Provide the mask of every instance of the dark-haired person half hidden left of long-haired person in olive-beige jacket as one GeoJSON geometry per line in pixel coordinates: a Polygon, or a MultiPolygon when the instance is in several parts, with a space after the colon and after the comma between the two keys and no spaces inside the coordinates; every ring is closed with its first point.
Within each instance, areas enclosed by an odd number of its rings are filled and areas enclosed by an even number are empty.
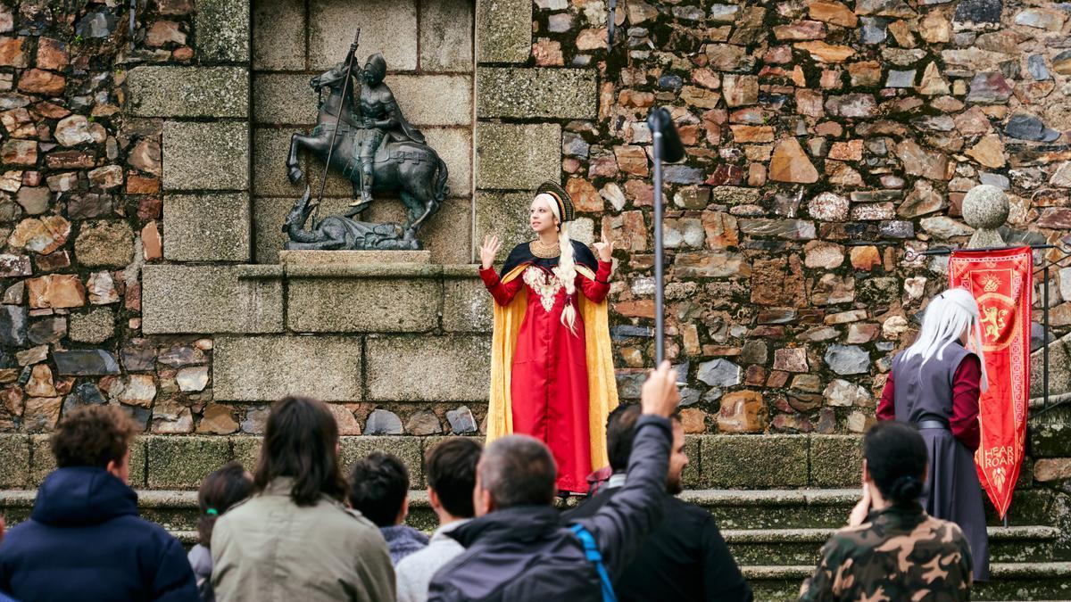
{"type": "Polygon", "coordinates": [[[201,602],[214,602],[212,591],[212,527],[220,515],[253,493],[253,476],[237,462],[230,462],[212,472],[197,491],[197,545],[190,551],[190,566],[197,577],[201,602]]]}

